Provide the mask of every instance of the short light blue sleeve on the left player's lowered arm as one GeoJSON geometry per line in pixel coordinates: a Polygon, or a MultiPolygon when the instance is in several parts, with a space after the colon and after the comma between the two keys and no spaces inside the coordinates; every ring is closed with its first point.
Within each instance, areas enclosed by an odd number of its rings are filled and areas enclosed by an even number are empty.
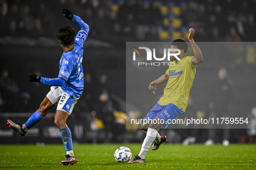
{"type": "Polygon", "coordinates": [[[75,61],[72,60],[71,57],[63,56],[58,77],[64,79],[67,82],[73,70],[74,64],[75,64],[75,61]]]}

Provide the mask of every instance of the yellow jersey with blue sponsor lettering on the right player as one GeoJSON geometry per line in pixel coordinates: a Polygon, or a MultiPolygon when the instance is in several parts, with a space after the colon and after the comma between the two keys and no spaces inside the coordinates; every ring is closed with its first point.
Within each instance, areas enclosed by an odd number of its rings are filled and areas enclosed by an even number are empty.
{"type": "Polygon", "coordinates": [[[169,80],[158,104],[162,106],[175,104],[185,112],[196,72],[196,66],[191,63],[192,58],[193,56],[185,56],[180,61],[173,61],[174,65],[170,63],[169,69],[166,71],[169,80]]]}

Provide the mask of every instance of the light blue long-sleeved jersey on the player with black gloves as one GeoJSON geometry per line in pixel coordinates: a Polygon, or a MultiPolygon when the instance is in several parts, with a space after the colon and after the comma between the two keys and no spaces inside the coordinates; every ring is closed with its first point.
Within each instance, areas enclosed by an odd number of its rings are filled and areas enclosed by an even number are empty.
{"type": "Polygon", "coordinates": [[[64,51],[59,62],[58,78],[41,77],[40,82],[45,85],[62,86],[62,90],[75,98],[79,98],[84,91],[83,52],[84,41],[87,39],[89,26],[79,16],[73,16],[72,21],[78,23],[81,30],[75,37],[74,47],[64,51]],[[63,81],[65,80],[65,82],[63,81]]]}

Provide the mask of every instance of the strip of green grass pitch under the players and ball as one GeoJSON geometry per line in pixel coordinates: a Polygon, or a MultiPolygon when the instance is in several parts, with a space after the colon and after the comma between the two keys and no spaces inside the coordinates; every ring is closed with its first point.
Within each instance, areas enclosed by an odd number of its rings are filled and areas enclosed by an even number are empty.
{"type": "Polygon", "coordinates": [[[198,170],[240,170],[256,169],[256,145],[170,145],[163,144],[157,151],[149,150],[146,163],[118,163],[114,151],[126,146],[133,155],[139,153],[141,144],[74,145],[78,164],[63,166],[65,159],[63,145],[0,145],[0,169],[198,169],[198,170]]]}

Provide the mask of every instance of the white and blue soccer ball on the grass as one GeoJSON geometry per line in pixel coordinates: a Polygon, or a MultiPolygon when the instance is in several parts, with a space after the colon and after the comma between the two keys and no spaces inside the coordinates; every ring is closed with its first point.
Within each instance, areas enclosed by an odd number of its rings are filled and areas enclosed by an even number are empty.
{"type": "Polygon", "coordinates": [[[114,157],[117,162],[128,162],[132,158],[132,152],[129,148],[121,146],[115,151],[114,157]]]}

